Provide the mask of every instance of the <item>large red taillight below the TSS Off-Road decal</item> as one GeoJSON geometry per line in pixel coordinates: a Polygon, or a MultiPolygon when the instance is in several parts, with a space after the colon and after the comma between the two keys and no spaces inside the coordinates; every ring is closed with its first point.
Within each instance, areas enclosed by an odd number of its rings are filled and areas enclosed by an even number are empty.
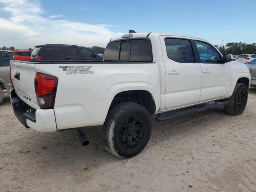
{"type": "Polygon", "coordinates": [[[58,86],[58,78],[52,75],[36,72],[35,91],[38,106],[53,108],[58,86]]]}

